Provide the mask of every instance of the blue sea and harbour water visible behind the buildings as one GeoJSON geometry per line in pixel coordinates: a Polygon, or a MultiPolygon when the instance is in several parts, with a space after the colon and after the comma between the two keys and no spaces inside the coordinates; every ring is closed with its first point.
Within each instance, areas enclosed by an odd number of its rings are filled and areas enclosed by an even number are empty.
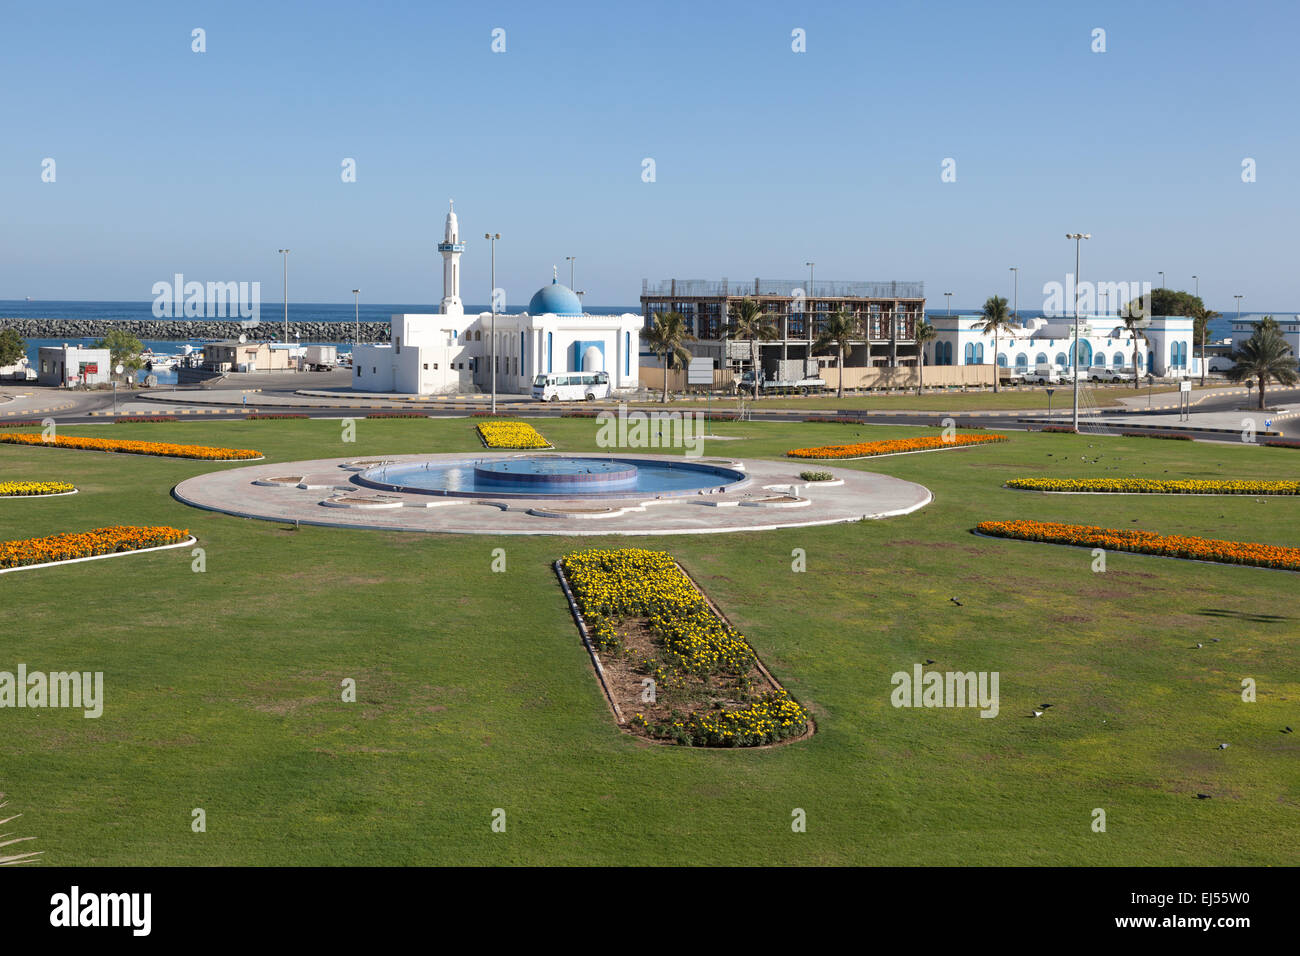
{"type": "MultiPolygon", "coordinates": [[[[359,312],[354,311],[354,303],[329,303],[329,302],[316,302],[316,303],[289,303],[289,320],[295,321],[324,321],[324,323],[351,323],[356,317],[363,323],[387,323],[391,316],[403,312],[436,312],[438,306],[436,303],[378,303],[368,304],[363,303],[359,307],[359,312]]],[[[592,315],[620,315],[623,312],[641,312],[640,304],[633,306],[585,306],[586,311],[592,315]]],[[[488,312],[490,306],[473,306],[467,304],[465,312],[488,312]]],[[[506,315],[516,315],[523,312],[523,307],[506,308],[503,312],[506,315]]],[[[957,308],[957,315],[975,315],[978,308],[963,310],[957,308]]],[[[941,316],[946,315],[946,310],[936,308],[927,310],[928,316],[941,316]]],[[[1020,310],[1020,316],[1026,319],[1039,317],[1044,313],[1041,311],[1020,310]]],[[[1257,317],[1258,315],[1294,315],[1294,310],[1284,310],[1283,312],[1252,312],[1249,315],[1243,313],[1242,317],[1257,317]]],[[[22,299],[0,299],[0,319],[153,319],[153,302],[92,302],[92,300],[66,300],[58,302],[52,299],[39,299],[34,302],[25,302],[22,299]]],[[[1227,338],[1232,334],[1232,321],[1235,313],[1223,315],[1210,323],[1209,338],[1210,341],[1218,341],[1227,338]]],[[[263,324],[274,329],[278,323],[283,320],[283,313],[274,308],[268,308],[263,316],[263,324]]],[[[1117,320],[1118,321],[1118,320],[1117,320]]],[[[90,338],[81,339],[55,339],[55,338],[29,338],[27,339],[27,360],[32,363],[32,368],[38,365],[36,350],[40,346],[49,345],[90,345],[90,338]]],[[[188,345],[198,346],[200,339],[191,339],[188,345]]],[[[144,341],[144,346],[160,355],[178,354],[182,351],[181,346],[186,342],[177,342],[174,339],[166,341],[144,341]]],[[[300,345],[333,345],[338,346],[341,350],[350,350],[351,342],[300,342],[300,345]]],[[[150,375],[147,371],[140,371],[140,381],[144,376],[150,375]]],[[[155,372],[157,375],[160,385],[170,385],[176,382],[176,372],[161,369],[155,372]]]]}

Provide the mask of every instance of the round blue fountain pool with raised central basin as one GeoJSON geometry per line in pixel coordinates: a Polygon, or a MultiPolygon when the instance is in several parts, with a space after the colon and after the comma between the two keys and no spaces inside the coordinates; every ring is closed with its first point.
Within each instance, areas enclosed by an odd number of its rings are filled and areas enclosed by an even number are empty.
{"type": "Polygon", "coordinates": [[[724,492],[744,483],[746,475],[688,460],[515,455],[382,464],[355,480],[389,492],[455,497],[667,498],[724,492]]]}

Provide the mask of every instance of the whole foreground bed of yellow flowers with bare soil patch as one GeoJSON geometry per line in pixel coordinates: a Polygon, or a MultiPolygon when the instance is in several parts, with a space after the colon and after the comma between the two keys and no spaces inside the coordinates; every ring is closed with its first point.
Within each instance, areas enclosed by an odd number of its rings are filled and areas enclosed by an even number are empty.
{"type": "Polygon", "coordinates": [[[585,550],[560,562],[593,643],[611,656],[615,685],[655,700],[629,726],[656,740],[757,747],[807,731],[809,715],[768,683],[742,635],[714,613],[667,551],[585,550]],[[736,705],[740,706],[736,706],[736,705]]]}

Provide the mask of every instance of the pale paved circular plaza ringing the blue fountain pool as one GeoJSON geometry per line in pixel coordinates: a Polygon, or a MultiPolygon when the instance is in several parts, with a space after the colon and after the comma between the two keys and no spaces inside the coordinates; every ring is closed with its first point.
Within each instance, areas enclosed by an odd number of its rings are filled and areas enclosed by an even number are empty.
{"type": "Polygon", "coordinates": [[[187,479],[176,486],[186,505],[239,518],[337,528],[452,535],[707,535],[838,524],[905,515],[931,501],[930,489],[866,471],[823,468],[831,481],[805,481],[807,464],[764,459],[662,455],[575,455],[607,460],[690,462],[744,472],[741,481],[696,494],[545,498],[438,496],[376,489],[361,473],[428,462],[481,466],[536,453],[386,455],[260,463],[187,479]]]}

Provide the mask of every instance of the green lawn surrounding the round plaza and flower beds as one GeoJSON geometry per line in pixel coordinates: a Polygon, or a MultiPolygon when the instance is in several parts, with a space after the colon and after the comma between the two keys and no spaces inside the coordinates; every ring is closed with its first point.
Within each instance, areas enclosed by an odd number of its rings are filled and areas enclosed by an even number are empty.
{"type": "MultiPolygon", "coordinates": [[[[563,450],[595,447],[590,420],[534,424],[563,450]]],[[[706,454],[900,437],[718,431],[745,440],[706,454]]],[[[481,447],[467,419],[358,421],[355,445],[337,421],[61,433],[257,447],[268,463],[481,447]]],[[[1128,554],[1095,574],[1086,550],[970,535],[1037,518],[1297,545],[1297,499],[1001,488],[1286,479],[1295,450],[1015,433],[837,466],[931,488],[904,518],[633,538],[671,550],[814,713],[814,737],[757,752],[615,727],[551,562],[628,540],[294,531],[169,496],[222,467],[239,466],[0,446],[0,479],[81,489],[0,502],[0,538],[173,524],[207,562],[195,572],[181,549],[0,576],[0,670],[105,675],[99,719],[0,710],[0,791],[46,864],[1300,862],[1300,735],[1280,732],[1300,724],[1295,575],[1128,554]],[[790,570],[796,548],[806,574],[790,570]],[[998,671],[1000,715],[893,708],[890,675],[927,658],[998,671]],[[355,704],[341,702],[344,678],[355,704]],[[1242,701],[1243,678],[1257,702],[1242,701]],[[207,832],[191,831],[195,808],[207,832]],[[807,832],[792,832],[794,808],[807,832]]]]}

